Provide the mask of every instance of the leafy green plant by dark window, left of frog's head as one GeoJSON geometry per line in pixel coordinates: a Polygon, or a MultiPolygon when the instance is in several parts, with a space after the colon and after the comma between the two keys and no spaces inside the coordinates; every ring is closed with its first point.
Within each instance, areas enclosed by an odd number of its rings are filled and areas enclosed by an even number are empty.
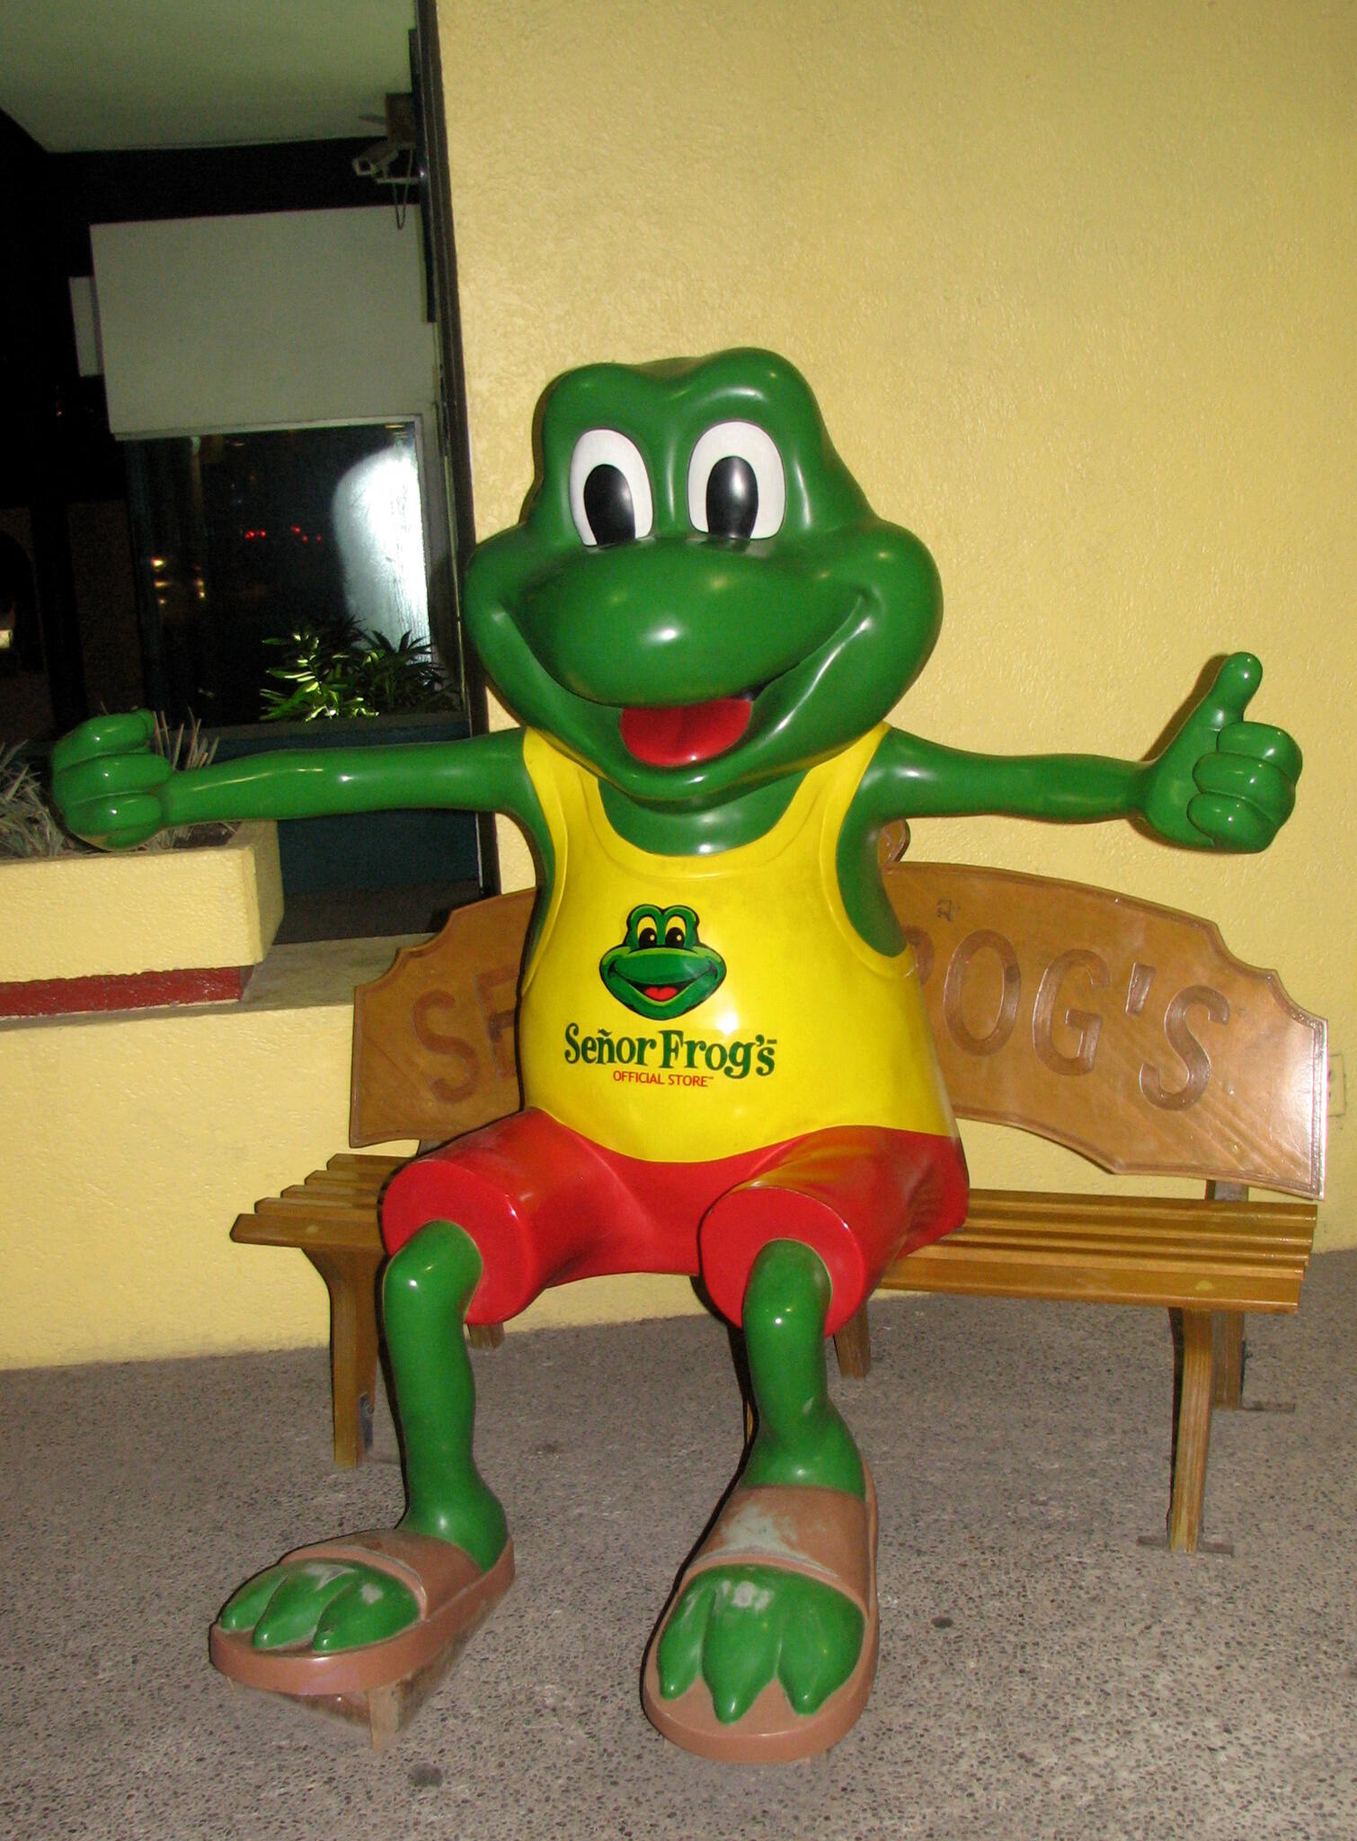
{"type": "Polygon", "coordinates": [[[319,716],[383,716],[392,711],[458,709],[457,689],[436,663],[427,639],[401,633],[392,644],[342,617],[324,626],[298,626],[287,639],[269,639],[282,657],[269,666],[282,689],[265,685],[265,722],[315,722],[319,716]]]}

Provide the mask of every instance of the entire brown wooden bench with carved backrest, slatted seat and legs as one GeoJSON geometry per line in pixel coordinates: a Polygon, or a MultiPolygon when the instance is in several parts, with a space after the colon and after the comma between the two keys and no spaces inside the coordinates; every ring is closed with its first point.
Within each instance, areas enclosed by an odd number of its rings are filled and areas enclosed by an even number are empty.
{"type": "MultiPolygon", "coordinates": [[[[1206,920],[1101,889],[891,863],[957,1117],[1035,1132],[1197,1195],[978,1189],[965,1226],[884,1289],[1160,1305],[1175,1338],[1169,1546],[1195,1552],[1212,1407],[1243,1384],[1243,1316],[1294,1311],[1324,1186],[1326,1027],[1206,920]],[[1300,1197],[1250,1198],[1250,1186],[1300,1197]]],[[[532,895],[462,908],[354,1005],[350,1143],[440,1143],[519,1105],[514,998],[532,895]]],[[[377,1198],[392,1156],[331,1158],[260,1202],[238,1241],[300,1246],[331,1298],[335,1462],[376,1397],[377,1198]]],[[[497,1340],[499,1331],[481,1333],[497,1340]]],[[[840,1333],[869,1364],[865,1313],[840,1333]]]]}

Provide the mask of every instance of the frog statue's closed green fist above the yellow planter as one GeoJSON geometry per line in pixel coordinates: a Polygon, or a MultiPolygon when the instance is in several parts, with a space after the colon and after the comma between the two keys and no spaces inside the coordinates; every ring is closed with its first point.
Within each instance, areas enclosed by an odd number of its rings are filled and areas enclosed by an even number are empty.
{"type": "Polygon", "coordinates": [[[68,830],[127,851],[169,823],[171,766],[155,753],[155,716],[96,716],[52,751],[52,797],[68,830]]]}

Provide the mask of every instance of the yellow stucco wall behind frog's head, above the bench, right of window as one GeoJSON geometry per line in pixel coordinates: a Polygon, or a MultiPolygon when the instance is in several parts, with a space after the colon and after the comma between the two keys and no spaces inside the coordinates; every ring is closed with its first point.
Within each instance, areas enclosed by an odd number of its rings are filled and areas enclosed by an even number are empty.
{"type": "MultiPolygon", "coordinates": [[[[440,0],[477,527],[543,385],[757,342],[810,377],[946,624],[897,720],[1136,757],[1248,646],[1300,736],[1261,858],[928,823],[926,856],[1210,913],[1357,1042],[1357,13],[1318,0],[440,0]]],[[[512,880],[527,858],[506,852],[512,880]]],[[[1357,1066],[1353,1068],[1357,1073],[1357,1066]]],[[[1357,1241],[1329,1136],[1320,1245],[1357,1241]]],[[[967,1130],[980,1182],[1088,1165],[967,1130]]]]}

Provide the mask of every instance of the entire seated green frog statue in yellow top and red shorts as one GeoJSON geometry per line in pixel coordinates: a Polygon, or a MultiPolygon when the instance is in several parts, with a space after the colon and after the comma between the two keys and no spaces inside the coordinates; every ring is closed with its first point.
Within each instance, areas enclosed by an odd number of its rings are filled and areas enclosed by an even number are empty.
{"type": "Polygon", "coordinates": [[[109,849],[195,819],[458,806],[508,814],[538,862],[523,1110],[405,1165],[383,1202],[405,1517],[249,1580],[212,1631],[234,1679],[335,1696],[431,1670],[514,1565],[462,1326],[569,1278],[687,1272],[742,1326],[757,1430],[652,1638],[646,1712],[735,1760],[806,1756],[858,1718],[876,1500],[825,1338],[967,1210],[878,834],[1131,817],[1259,851],[1300,773],[1291,736],[1245,720],[1248,654],[1149,760],[921,740],[886,716],[939,622],[928,550],[869,510],[792,365],[597,365],[547,392],[523,521],[466,580],[521,727],[191,775],[149,751],[144,714],[59,744],[66,823],[109,849]]]}

